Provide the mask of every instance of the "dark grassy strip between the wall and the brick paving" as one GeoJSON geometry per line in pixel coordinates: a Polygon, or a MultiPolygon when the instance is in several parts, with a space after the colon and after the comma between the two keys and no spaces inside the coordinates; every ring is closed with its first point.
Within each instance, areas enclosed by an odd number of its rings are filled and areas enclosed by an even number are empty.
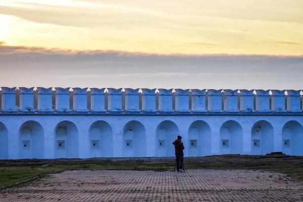
{"type": "MultiPolygon", "coordinates": [[[[247,169],[284,173],[303,181],[303,157],[287,155],[214,155],[186,157],[185,169],[247,169]]],[[[174,158],[98,158],[0,160],[0,187],[66,170],[173,171],[174,158]]]]}

